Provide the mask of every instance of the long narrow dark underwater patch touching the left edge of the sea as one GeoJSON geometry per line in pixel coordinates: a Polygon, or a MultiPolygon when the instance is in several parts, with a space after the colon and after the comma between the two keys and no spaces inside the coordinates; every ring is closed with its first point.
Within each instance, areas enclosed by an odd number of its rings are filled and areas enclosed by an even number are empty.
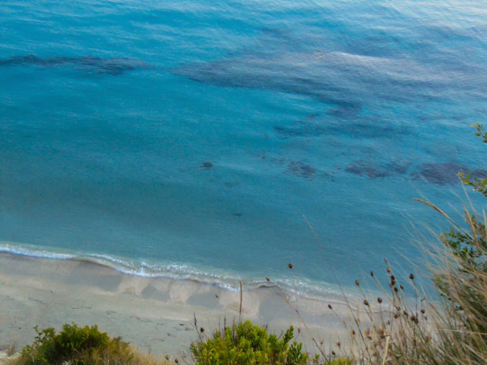
{"type": "Polygon", "coordinates": [[[125,57],[101,58],[86,55],[78,57],[55,56],[41,58],[37,55],[23,55],[0,59],[0,66],[15,65],[34,65],[41,67],[68,66],[85,71],[110,75],[120,75],[126,71],[151,68],[143,61],[125,57]]]}

